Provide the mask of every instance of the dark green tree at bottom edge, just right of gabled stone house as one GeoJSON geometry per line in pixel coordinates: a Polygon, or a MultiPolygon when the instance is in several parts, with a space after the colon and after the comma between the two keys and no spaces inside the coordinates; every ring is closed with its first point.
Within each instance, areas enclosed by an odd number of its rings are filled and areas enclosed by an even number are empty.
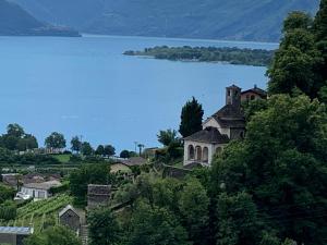
{"type": "Polygon", "coordinates": [[[87,217],[90,245],[118,245],[122,229],[110,209],[96,209],[87,217]]]}

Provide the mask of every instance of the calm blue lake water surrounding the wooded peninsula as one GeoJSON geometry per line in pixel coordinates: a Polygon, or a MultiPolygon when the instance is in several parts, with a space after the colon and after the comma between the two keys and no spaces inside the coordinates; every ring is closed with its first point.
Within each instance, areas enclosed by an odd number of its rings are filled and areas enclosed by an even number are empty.
{"type": "Polygon", "coordinates": [[[51,132],[83,135],[119,152],[134,142],[157,146],[159,130],[178,128],[192,96],[208,117],[225,103],[225,87],[265,88],[265,68],[173,62],[122,56],[168,46],[275,49],[277,44],[112,37],[0,37],[0,132],[20,123],[39,144],[51,132]]]}

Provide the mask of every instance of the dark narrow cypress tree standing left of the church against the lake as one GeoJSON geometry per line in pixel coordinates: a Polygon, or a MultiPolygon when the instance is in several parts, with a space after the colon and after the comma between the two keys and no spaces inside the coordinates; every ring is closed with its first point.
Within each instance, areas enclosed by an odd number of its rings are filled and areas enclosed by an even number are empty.
{"type": "Polygon", "coordinates": [[[187,137],[202,130],[202,120],[204,111],[202,105],[193,97],[182,108],[180,133],[187,137]]]}

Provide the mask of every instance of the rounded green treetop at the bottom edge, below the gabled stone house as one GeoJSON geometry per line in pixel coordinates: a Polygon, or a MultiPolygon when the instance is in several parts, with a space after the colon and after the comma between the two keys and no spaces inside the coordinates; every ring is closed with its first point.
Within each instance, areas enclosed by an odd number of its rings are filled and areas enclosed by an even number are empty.
{"type": "Polygon", "coordinates": [[[82,245],[76,235],[64,226],[52,226],[27,237],[25,245],[82,245]]]}

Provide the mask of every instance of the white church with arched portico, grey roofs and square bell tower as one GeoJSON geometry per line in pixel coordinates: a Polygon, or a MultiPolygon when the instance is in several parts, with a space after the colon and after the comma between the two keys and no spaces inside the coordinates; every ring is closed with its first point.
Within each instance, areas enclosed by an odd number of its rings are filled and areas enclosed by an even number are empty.
{"type": "Polygon", "coordinates": [[[184,166],[210,166],[215,154],[233,139],[243,138],[245,118],[241,88],[226,88],[226,105],[203,122],[203,130],[184,138],[184,166]]]}

